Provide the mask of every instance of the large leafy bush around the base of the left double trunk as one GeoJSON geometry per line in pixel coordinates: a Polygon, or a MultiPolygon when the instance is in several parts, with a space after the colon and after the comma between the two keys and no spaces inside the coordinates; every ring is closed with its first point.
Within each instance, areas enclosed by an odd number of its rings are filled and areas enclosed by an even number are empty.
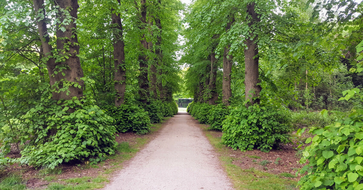
{"type": "Polygon", "coordinates": [[[92,101],[87,98],[54,101],[48,97],[51,95],[34,102],[23,116],[27,127],[21,131],[25,147],[20,163],[53,169],[72,160],[90,158],[98,162],[106,154],[114,154],[113,118],[98,106],[89,105],[92,101]]]}

